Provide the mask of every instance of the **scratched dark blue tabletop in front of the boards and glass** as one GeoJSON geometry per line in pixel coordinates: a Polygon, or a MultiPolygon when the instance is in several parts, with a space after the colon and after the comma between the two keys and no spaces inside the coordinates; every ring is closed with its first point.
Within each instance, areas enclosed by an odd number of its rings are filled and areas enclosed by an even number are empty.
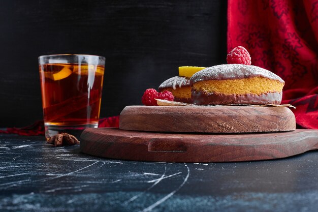
{"type": "Polygon", "coordinates": [[[318,152],[239,163],[109,160],[0,134],[0,211],[317,211],[318,152]]]}

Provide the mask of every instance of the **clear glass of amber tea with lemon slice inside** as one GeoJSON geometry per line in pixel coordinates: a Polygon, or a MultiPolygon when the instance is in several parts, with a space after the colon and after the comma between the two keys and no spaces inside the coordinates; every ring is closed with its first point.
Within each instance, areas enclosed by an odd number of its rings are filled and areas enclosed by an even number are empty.
{"type": "Polygon", "coordinates": [[[105,57],[56,54],[39,57],[45,137],[70,133],[79,137],[97,128],[105,57]]]}

